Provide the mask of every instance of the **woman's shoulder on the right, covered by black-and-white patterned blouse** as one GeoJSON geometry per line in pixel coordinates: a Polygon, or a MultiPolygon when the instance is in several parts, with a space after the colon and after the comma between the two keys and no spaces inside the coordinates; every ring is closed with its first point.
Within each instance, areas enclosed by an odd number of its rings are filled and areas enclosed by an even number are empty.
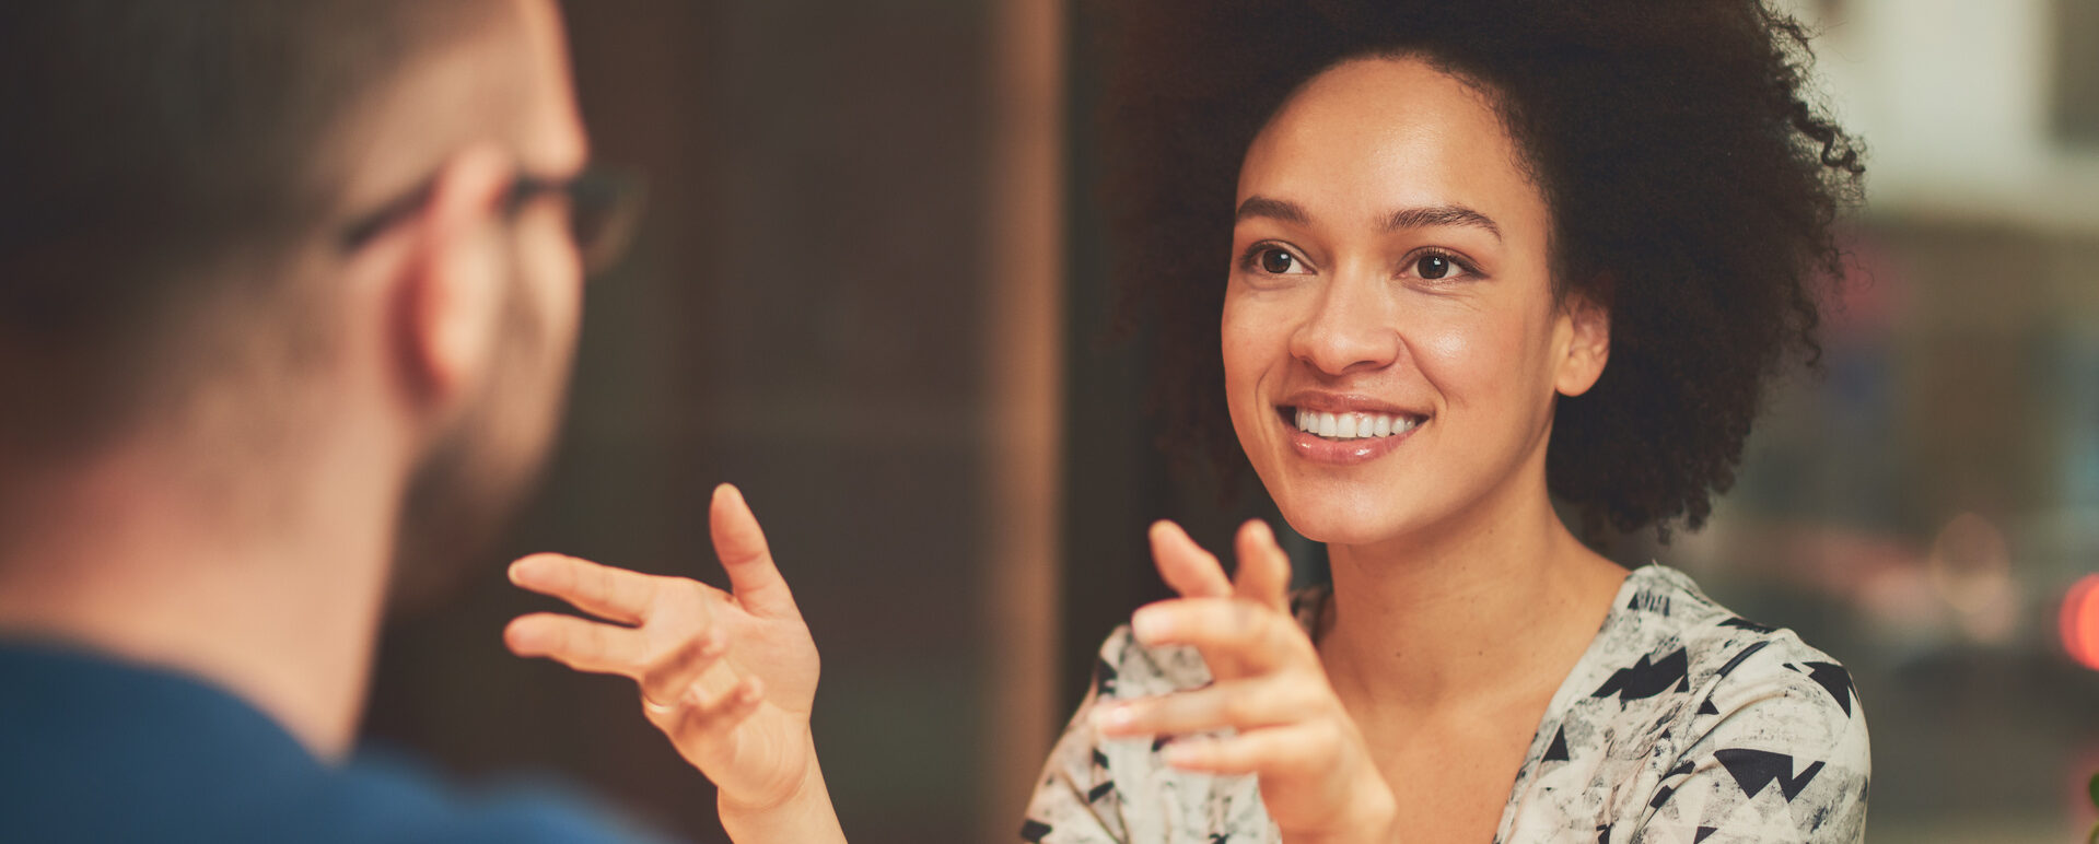
{"type": "Polygon", "coordinates": [[[1520,831],[1858,840],[1872,762],[1843,663],[1675,569],[1633,571],[1616,600],[1534,739],[1520,831]]]}

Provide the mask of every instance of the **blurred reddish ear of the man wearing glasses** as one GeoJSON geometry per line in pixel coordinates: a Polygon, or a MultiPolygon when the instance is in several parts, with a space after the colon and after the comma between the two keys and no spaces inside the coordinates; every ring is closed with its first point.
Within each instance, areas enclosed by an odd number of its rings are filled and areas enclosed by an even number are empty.
{"type": "Polygon", "coordinates": [[[432,176],[397,288],[399,361],[422,401],[451,403],[489,367],[502,328],[502,199],[510,157],[495,147],[453,155],[432,176]]]}

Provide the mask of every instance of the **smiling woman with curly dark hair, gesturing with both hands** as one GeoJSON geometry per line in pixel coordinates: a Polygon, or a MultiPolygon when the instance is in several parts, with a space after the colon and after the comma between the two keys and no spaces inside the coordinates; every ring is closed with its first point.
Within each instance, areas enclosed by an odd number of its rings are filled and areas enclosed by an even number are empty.
{"type": "MultiPolygon", "coordinates": [[[[1117,231],[1163,382],[1190,384],[1171,422],[1230,420],[1333,586],[1285,594],[1257,523],[1236,582],[1154,527],[1182,598],[1104,645],[1024,838],[1858,840],[1843,668],[1553,506],[1698,527],[1814,351],[1860,168],[1803,101],[1801,29],[1751,0],[1127,15],[1117,231]]],[[[527,617],[512,647],[642,680],[739,842],[835,836],[814,649],[756,521],[716,504],[733,596],[529,558],[523,586],[640,626],[527,617]]]]}

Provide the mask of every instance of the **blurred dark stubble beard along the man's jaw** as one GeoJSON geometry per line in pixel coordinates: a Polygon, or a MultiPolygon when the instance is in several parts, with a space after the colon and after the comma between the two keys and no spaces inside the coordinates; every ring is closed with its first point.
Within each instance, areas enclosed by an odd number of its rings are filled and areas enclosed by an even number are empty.
{"type": "Polygon", "coordinates": [[[512,286],[485,388],[409,477],[388,613],[458,594],[537,487],[567,384],[567,351],[554,359],[548,342],[552,332],[512,286]]]}

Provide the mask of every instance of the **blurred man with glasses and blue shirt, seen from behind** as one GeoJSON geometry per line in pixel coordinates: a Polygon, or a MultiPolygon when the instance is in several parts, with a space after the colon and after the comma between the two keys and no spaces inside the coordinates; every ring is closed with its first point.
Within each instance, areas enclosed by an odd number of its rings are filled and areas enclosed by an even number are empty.
{"type": "Polygon", "coordinates": [[[552,2],[4,4],[0,113],[0,840],[623,840],[348,760],[617,210],[552,2]]]}

